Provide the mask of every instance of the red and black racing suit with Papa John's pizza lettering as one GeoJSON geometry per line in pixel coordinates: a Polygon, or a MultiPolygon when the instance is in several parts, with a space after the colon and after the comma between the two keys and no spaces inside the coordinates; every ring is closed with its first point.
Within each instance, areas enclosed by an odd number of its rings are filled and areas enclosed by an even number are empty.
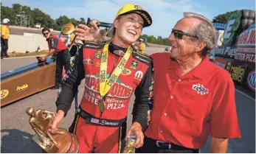
{"type": "MultiPolygon", "coordinates": [[[[80,143],[79,153],[122,153],[125,145],[126,117],[131,96],[135,94],[133,122],[139,122],[142,129],[148,125],[148,111],[153,97],[152,60],[135,51],[128,58],[125,69],[112,85],[105,97],[105,111],[100,112],[97,102],[100,96],[100,60],[103,43],[84,43],[77,49],[71,67],[63,78],[60,94],[56,101],[57,110],[67,113],[77,93],[77,87],[85,78],[85,91],[72,124],[80,143]]],[[[110,43],[108,46],[109,74],[125,55],[126,49],[110,43]]]]}

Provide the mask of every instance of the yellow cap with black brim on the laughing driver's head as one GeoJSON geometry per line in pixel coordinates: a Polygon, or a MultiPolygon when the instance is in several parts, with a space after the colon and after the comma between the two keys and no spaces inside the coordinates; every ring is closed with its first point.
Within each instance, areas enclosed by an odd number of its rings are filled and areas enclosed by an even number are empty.
{"type": "Polygon", "coordinates": [[[152,24],[151,15],[147,11],[143,10],[142,7],[136,4],[125,4],[117,13],[116,18],[119,15],[125,15],[128,13],[137,13],[143,18],[144,25],[143,27],[149,27],[152,24]]]}

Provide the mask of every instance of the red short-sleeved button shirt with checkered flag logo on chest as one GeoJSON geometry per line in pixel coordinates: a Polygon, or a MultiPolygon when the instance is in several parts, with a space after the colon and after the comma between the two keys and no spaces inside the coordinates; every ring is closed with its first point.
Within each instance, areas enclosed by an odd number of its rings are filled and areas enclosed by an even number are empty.
{"type": "Polygon", "coordinates": [[[240,138],[235,87],[229,72],[204,60],[181,76],[168,53],[151,56],[154,104],[145,136],[198,149],[208,136],[240,138]]]}

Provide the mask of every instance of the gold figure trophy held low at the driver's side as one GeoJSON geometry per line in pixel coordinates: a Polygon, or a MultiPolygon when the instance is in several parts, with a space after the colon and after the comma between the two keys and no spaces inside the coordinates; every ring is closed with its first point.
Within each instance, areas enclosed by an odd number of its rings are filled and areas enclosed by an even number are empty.
{"type": "Polygon", "coordinates": [[[54,119],[55,113],[38,109],[27,108],[30,116],[30,125],[35,131],[32,140],[35,141],[46,153],[77,153],[79,142],[73,133],[64,128],[58,128],[57,133],[48,131],[49,122],[54,119]]]}

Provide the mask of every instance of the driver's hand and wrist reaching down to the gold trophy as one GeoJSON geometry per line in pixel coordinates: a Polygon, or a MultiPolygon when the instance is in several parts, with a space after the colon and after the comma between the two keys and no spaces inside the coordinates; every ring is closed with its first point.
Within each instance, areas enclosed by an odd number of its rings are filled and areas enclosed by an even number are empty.
{"type": "Polygon", "coordinates": [[[57,132],[57,127],[63,121],[64,115],[65,113],[59,110],[53,121],[49,122],[48,130],[50,133],[55,134],[57,132]]]}

